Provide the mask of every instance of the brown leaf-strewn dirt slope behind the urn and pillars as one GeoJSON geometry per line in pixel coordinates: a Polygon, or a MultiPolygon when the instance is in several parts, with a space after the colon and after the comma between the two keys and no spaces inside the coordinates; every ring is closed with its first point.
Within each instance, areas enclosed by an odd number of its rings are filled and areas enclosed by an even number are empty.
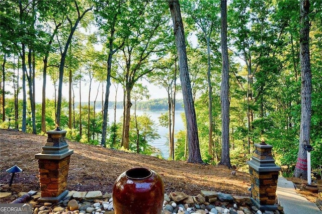
{"type": "MultiPolygon", "coordinates": [[[[41,152],[46,140],[39,135],[0,130],[0,183],[9,183],[11,174],[6,172],[8,168],[16,164],[23,169],[15,175],[12,187],[2,185],[1,191],[11,191],[15,197],[20,191],[39,190],[35,154],[41,152]]],[[[237,171],[233,176],[231,170],[223,166],[168,161],[75,142],[68,144],[74,150],[69,166],[68,190],[112,192],[114,181],[122,172],[132,167],[147,167],[163,178],[168,193],[183,191],[197,195],[200,190],[214,190],[250,196],[248,173],[237,171]]]]}

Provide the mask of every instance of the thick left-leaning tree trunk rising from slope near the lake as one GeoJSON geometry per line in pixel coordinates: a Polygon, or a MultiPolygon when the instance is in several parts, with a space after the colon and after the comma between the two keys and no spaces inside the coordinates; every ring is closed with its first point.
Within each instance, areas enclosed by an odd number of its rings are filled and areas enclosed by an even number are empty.
{"type": "Polygon", "coordinates": [[[182,84],[182,94],[185,105],[189,148],[188,162],[203,163],[199,148],[196,112],[192,97],[191,83],[188,71],[186,41],[183,22],[181,18],[180,5],[179,1],[175,0],[168,0],[168,3],[170,6],[170,12],[174,25],[174,33],[179,59],[180,81],[182,84]]]}

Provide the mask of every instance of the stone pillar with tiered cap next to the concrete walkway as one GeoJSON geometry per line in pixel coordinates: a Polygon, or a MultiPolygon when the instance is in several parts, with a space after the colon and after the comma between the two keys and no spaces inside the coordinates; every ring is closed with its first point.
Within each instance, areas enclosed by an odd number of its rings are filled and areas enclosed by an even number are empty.
{"type": "Polygon", "coordinates": [[[260,210],[277,210],[276,188],[278,172],[281,167],[275,164],[272,146],[262,142],[255,144],[255,151],[250,161],[252,203],[260,210]]]}

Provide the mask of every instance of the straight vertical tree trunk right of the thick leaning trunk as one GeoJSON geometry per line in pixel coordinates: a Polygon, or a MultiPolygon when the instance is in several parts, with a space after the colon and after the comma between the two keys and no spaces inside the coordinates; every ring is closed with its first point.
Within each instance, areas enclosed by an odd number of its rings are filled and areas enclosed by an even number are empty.
{"type": "Polygon", "coordinates": [[[221,160],[220,165],[231,167],[229,156],[229,63],[227,48],[227,1],[221,0],[221,160]]]}

